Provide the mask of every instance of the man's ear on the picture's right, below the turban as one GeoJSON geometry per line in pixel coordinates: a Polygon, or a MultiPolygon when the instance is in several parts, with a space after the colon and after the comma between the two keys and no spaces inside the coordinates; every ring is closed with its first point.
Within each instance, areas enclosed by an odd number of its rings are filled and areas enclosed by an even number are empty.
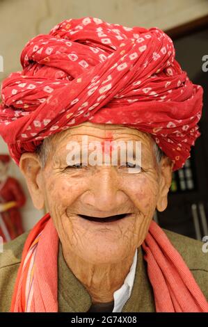
{"type": "Polygon", "coordinates": [[[160,164],[159,197],[156,207],[159,212],[163,212],[168,205],[168,192],[172,182],[173,161],[163,156],[160,164]]]}

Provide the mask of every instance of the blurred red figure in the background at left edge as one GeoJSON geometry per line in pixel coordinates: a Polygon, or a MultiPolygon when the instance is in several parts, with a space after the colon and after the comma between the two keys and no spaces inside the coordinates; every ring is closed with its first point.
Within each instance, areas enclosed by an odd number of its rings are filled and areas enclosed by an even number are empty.
{"type": "Polygon", "coordinates": [[[26,202],[19,182],[8,176],[9,162],[8,154],[0,154],[0,236],[4,242],[24,232],[18,208],[26,202]]]}

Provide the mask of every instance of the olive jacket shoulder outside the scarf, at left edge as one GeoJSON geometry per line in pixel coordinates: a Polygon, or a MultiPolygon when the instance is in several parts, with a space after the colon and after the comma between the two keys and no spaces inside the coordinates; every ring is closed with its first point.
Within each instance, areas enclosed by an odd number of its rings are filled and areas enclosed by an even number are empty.
{"type": "Polygon", "coordinates": [[[28,234],[29,232],[26,232],[13,241],[3,244],[3,253],[0,253],[0,312],[10,310],[17,271],[28,234]]]}

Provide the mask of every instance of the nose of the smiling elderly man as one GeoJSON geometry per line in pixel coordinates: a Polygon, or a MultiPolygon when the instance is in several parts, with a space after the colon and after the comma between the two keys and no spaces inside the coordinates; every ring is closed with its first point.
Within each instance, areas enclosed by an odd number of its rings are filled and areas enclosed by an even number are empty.
{"type": "Polygon", "coordinates": [[[84,202],[97,212],[118,212],[127,196],[120,188],[120,177],[113,166],[101,166],[90,181],[84,202]]]}

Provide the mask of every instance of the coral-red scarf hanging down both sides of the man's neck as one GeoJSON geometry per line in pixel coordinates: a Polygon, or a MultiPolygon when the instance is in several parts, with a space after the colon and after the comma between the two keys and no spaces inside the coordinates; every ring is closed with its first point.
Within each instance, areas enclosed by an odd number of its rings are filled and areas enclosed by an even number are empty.
{"type": "MultiPolygon", "coordinates": [[[[58,312],[58,241],[46,214],[24,244],[11,312],[58,312]]],[[[191,271],[154,221],[142,247],[157,312],[208,312],[191,271]]]]}

